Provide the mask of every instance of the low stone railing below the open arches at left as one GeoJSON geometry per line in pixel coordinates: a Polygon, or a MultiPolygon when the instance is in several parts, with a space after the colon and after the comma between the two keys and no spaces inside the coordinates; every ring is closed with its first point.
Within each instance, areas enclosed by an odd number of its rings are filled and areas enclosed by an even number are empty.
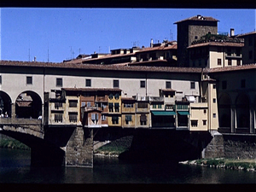
{"type": "Polygon", "coordinates": [[[0,125],[41,125],[41,119],[0,118],[0,125]]]}

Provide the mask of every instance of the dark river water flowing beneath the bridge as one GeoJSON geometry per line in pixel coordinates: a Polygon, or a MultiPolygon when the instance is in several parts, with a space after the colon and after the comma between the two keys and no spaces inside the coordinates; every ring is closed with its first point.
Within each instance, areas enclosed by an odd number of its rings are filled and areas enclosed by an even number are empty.
{"type": "Polygon", "coordinates": [[[30,151],[0,148],[0,183],[256,183],[256,172],[95,157],[94,167],[31,167],[30,151]]]}

